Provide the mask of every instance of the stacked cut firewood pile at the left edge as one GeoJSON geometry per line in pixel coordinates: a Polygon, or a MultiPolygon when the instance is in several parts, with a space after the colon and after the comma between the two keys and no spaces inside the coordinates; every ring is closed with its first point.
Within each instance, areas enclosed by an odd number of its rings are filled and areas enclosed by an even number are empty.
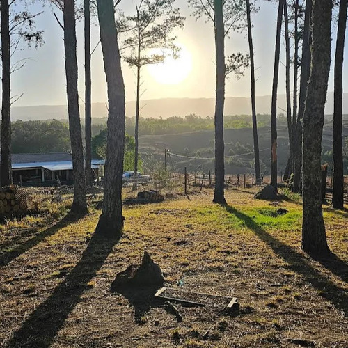
{"type": "Polygon", "coordinates": [[[28,214],[37,210],[37,203],[24,190],[14,185],[0,189],[0,217],[12,217],[28,214]]]}

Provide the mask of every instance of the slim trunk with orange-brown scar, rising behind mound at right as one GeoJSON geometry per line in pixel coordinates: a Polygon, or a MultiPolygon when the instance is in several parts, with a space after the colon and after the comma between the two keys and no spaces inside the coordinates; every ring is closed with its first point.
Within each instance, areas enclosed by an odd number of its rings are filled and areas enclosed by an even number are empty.
{"type": "Polygon", "coordinates": [[[277,33],[276,33],[276,52],[274,54],[274,75],[272,87],[272,106],[271,106],[271,185],[274,189],[277,187],[277,93],[278,93],[278,75],[280,59],[280,35],[282,29],[284,0],[279,0],[277,33]]]}

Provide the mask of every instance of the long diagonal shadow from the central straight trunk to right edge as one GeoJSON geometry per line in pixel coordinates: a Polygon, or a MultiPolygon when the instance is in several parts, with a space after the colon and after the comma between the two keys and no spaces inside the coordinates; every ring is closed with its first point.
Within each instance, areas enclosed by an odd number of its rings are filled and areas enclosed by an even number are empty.
{"type": "MultiPolygon", "coordinates": [[[[263,230],[251,217],[229,205],[223,205],[223,207],[225,207],[227,212],[243,221],[246,227],[252,230],[262,242],[267,243],[280,258],[283,258],[287,264],[290,264],[290,269],[303,276],[306,282],[310,283],[320,293],[320,296],[333,303],[338,310],[342,310],[346,317],[348,316],[348,294],[345,289],[335,285],[327,276],[317,271],[310,264],[310,261],[296,249],[292,248],[292,246],[281,242],[263,230]]],[[[342,262],[342,260],[340,261],[342,262]]]]}

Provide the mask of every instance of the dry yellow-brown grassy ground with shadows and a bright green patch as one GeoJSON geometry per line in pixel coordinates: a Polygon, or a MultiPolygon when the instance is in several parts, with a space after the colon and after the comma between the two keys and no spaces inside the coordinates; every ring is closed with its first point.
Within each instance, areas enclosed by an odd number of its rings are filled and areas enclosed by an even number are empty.
{"type": "MultiPolygon", "coordinates": [[[[296,197],[295,197],[296,198],[296,197]]],[[[301,203],[228,190],[125,207],[118,241],[93,235],[100,211],[64,207],[0,226],[1,347],[348,347],[348,212],[324,208],[330,260],[301,251],[301,203]],[[283,207],[287,214],[278,216],[283,207]],[[144,251],[168,285],[237,297],[240,313],[111,289],[144,251]],[[209,333],[205,335],[205,333],[209,333]],[[203,336],[206,337],[203,337],[203,336]]]]}

